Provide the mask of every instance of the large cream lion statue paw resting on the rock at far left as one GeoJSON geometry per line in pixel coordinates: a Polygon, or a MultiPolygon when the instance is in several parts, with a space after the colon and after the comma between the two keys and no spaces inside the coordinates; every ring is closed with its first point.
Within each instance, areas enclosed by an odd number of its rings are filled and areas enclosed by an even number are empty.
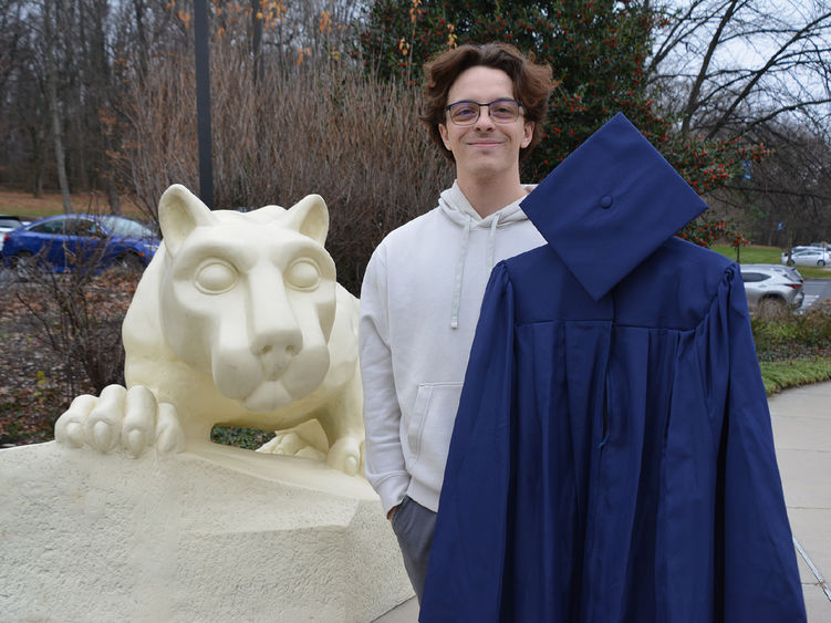
{"type": "Polygon", "coordinates": [[[135,457],[154,445],[163,453],[185,449],[174,406],[157,403],[141,385],[129,390],[108,385],[100,397],[77,396],[58,418],[55,440],[105,454],[122,448],[135,457]]]}

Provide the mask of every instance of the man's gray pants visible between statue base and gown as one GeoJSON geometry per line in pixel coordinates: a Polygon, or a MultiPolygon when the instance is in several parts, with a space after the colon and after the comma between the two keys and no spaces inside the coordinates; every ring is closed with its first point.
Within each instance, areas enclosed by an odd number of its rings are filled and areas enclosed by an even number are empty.
{"type": "Polygon", "coordinates": [[[427,577],[427,563],[430,558],[433,532],[436,529],[436,513],[409,496],[405,496],[393,513],[392,523],[404,558],[404,568],[407,570],[409,582],[420,604],[424,580],[427,577]]]}

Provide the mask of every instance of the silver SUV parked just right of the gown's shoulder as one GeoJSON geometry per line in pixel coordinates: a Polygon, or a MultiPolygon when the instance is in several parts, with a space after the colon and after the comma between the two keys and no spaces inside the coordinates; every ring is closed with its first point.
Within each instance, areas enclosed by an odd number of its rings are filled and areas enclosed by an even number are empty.
{"type": "Polygon", "coordinates": [[[779,264],[741,264],[747,305],[759,315],[798,309],[804,300],[804,279],[796,268],[779,264]]]}

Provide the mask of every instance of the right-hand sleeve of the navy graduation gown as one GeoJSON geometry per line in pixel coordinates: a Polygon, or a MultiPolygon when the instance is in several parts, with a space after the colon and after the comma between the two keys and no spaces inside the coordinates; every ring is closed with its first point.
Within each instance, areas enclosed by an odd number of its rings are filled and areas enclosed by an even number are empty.
{"type": "Polygon", "coordinates": [[[729,371],[721,429],[724,621],[804,621],[785,496],[747,298],[733,267],[724,320],[729,371]]]}

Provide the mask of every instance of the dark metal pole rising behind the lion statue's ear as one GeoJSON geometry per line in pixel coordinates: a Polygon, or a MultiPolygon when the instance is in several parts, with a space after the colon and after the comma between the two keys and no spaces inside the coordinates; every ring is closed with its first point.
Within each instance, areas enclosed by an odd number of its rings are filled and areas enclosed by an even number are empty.
{"type": "Polygon", "coordinates": [[[196,37],[196,118],[199,142],[199,198],[214,209],[214,160],[210,139],[210,54],[208,52],[208,3],[194,0],[196,37]]]}

